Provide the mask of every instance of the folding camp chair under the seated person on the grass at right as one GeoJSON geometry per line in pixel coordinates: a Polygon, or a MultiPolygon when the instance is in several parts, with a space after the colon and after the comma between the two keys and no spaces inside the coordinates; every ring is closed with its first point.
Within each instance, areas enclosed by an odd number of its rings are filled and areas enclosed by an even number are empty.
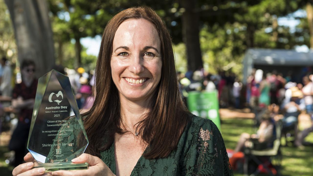
{"type": "Polygon", "coordinates": [[[245,159],[244,159],[244,174],[248,175],[248,164],[250,160],[253,160],[257,163],[258,167],[250,176],[257,175],[265,169],[269,175],[279,175],[278,169],[281,166],[282,155],[280,152],[280,137],[281,137],[281,129],[282,122],[276,122],[276,137],[273,142],[273,147],[264,149],[264,150],[254,150],[246,148],[244,150],[245,159]],[[260,158],[266,158],[266,161],[261,161],[260,158]],[[273,166],[275,161],[275,170],[272,170],[270,167],[273,166]]]}

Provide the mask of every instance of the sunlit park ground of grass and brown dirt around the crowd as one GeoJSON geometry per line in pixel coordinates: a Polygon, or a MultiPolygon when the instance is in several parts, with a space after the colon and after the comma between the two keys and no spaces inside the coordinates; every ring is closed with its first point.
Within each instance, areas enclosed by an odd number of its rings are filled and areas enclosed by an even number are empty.
{"type": "MultiPolygon", "coordinates": [[[[221,132],[226,145],[226,148],[234,149],[239,136],[243,132],[250,134],[255,132],[253,127],[254,115],[248,109],[232,110],[221,109],[221,132]]],[[[307,127],[308,119],[300,118],[300,130],[307,127]]],[[[4,154],[8,152],[7,142],[9,140],[8,132],[3,132],[0,135],[0,175],[12,175],[12,166],[5,163],[4,154]]],[[[313,142],[313,134],[310,134],[306,141],[313,142]]],[[[282,144],[285,145],[285,138],[282,138],[282,144]]],[[[284,176],[311,176],[313,175],[313,147],[305,146],[304,148],[293,147],[290,143],[281,148],[283,159],[281,167],[281,175],[284,176]]],[[[234,172],[235,176],[243,176],[241,173],[234,172]]],[[[264,175],[264,174],[263,174],[264,175]]]]}

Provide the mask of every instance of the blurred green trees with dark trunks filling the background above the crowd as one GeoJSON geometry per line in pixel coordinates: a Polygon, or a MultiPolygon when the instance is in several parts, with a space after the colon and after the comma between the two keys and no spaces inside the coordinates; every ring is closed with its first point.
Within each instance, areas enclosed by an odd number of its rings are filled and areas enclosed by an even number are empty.
{"type": "Polygon", "coordinates": [[[239,74],[248,48],[313,46],[309,0],[48,0],[48,4],[56,63],[69,68],[93,68],[96,57],[86,53],[80,40],[100,36],[112,16],[138,5],[152,7],[166,23],[180,71],[203,67],[211,73],[239,74]],[[294,16],[299,10],[308,18],[294,16]],[[280,17],[299,19],[300,24],[295,29],[280,26],[280,17]]]}

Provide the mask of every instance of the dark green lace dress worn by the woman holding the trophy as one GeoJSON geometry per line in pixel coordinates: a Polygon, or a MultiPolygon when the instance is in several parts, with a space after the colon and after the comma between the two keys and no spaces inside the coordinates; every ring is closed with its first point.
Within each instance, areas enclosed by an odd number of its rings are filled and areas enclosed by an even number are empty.
{"type": "MultiPolygon", "coordinates": [[[[101,159],[115,174],[114,143],[101,152],[101,159]]],[[[131,176],[137,175],[233,175],[221,133],[208,119],[197,116],[185,127],[167,158],[140,157],[131,176]]]]}

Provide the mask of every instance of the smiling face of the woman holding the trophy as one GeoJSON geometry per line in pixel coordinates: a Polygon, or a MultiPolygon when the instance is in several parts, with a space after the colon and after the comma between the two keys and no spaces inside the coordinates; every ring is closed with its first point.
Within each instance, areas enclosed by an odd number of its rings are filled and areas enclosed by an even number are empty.
{"type": "Polygon", "coordinates": [[[161,42],[145,19],[129,19],[116,30],[111,56],[112,79],[120,97],[147,100],[161,79],[161,42]]]}

